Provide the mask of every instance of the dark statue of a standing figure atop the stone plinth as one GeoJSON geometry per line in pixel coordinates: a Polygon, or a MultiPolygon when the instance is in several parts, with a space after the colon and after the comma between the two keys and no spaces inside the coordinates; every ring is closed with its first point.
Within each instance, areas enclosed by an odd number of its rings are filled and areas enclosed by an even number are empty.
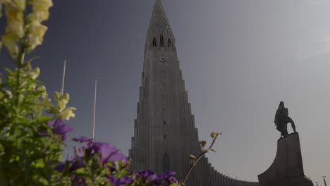
{"type": "Polygon", "coordinates": [[[276,129],[281,132],[281,137],[286,137],[288,135],[288,123],[291,123],[293,132],[296,132],[295,123],[288,116],[288,109],[284,106],[283,101],[280,102],[279,109],[276,111],[274,123],[276,125],[276,129]]]}

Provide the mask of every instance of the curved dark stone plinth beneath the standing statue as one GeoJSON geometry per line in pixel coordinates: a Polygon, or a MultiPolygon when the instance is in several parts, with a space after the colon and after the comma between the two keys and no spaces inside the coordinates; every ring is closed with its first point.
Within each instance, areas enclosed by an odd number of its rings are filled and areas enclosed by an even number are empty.
{"type": "Polygon", "coordinates": [[[312,186],[304,174],[298,132],[277,141],[274,162],[258,175],[259,186],[312,186]]]}

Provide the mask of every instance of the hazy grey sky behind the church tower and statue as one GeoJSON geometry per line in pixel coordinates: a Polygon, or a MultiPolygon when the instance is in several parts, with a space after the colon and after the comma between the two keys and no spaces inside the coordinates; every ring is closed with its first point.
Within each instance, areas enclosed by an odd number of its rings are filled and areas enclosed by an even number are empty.
{"type": "MultiPolygon", "coordinates": [[[[44,44],[31,56],[49,92],[61,88],[78,110],[69,137],[91,135],[127,155],[143,50],[154,0],[56,0],[44,44]],[[92,3],[91,3],[92,2],[92,3]]],[[[330,1],[166,0],[200,139],[224,135],[209,154],[221,173],[257,181],[276,154],[274,113],[284,101],[300,133],[305,174],[330,182],[330,1]],[[326,158],[328,157],[328,158],[326,158]]],[[[0,22],[4,32],[4,20],[0,22]]],[[[0,67],[8,66],[2,50],[0,67]]],[[[74,143],[69,142],[69,147],[74,143]]]]}

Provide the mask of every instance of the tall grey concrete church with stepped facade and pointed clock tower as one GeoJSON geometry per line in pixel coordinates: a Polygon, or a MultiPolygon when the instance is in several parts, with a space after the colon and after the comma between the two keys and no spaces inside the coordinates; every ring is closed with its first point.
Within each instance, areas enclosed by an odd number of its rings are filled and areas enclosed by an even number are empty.
{"type": "MultiPolygon", "coordinates": [[[[198,130],[185,90],[176,39],[161,4],[156,0],[147,31],[142,86],[129,156],[133,170],[176,171],[178,180],[190,168],[190,154],[200,154],[198,130]]],[[[189,186],[258,185],[216,171],[207,158],[197,163],[189,186]]]]}

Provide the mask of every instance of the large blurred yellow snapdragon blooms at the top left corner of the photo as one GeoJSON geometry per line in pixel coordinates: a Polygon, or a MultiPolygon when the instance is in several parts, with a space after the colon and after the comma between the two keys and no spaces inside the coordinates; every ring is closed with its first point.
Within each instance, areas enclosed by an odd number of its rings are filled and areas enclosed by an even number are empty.
{"type": "Polygon", "coordinates": [[[27,52],[42,44],[47,27],[41,22],[49,18],[49,8],[53,6],[51,0],[2,0],[0,13],[2,5],[4,5],[7,25],[1,42],[11,56],[14,58],[18,56],[18,42],[25,36],[27,37],[27,52]],[[32,13],[25,18],[24,12],[27,5],[32,6],[32,13]]]}

